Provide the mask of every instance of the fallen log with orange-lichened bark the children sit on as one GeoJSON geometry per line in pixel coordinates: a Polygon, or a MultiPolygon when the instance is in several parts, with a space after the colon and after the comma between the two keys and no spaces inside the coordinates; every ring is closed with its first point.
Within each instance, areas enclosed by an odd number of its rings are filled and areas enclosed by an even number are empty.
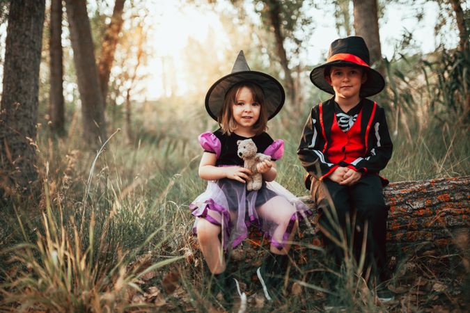
{"type": "MultiPolygon", "coordinates": [[[[389,206],[389,268],[395,268],[397,262],[408,254],[426,252],[428,255],[440,255],[440,249],[457,248],[460,252],[468,249],[470,176],[395,182],[384,188],[384,195],[389,206]],[[459,236],[463,244],[458,243],[459,236]]],[[[322,241],[320,230],[316,227],[320,212],[310,197],[301,197],[301,200],[311,207],[313,214],[299,224],[295,238],[297,244],[292,246],[290,252],[291,264],[296,264],[290,268],[302,268],[302,271],[293,270],[290,275],[304,279],[302,275],[305,273],[318,271],[313,261],[319,256],[316,248],[322,247],[322,241]]],[[[196,248],[196,239],[193,243],[196,248]]],[[[230,271],[238,268],[237,271],[244,272],[240,274],[241,278],[251,273],[250,280],[256,281],[255,272],[248,271],[246,264],[257,268],[264,262],[268,251],[267,239],[255,227],[251,227],[249,238],[231,253],[230,271]]]]}

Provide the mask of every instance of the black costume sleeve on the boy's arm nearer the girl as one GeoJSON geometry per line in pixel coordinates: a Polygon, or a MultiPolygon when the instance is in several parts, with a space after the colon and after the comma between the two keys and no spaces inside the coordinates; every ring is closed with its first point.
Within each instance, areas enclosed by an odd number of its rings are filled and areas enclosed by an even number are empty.
{"type": "Polygon", "coordinates": [[[331,163],[324,156],[323,147],[324,138],[320,127],[319,109],[318,106],[315,106],[308,116],[304,131],[302,131],[297,155],[307,172],[318,179],[326,177],[338,168],[338,165],[331,163]]]}

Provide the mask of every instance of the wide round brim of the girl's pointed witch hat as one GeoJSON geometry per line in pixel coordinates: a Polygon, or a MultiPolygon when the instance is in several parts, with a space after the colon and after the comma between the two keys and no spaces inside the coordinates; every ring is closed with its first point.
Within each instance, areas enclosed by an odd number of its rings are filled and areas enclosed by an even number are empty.
{"type": "Polygon", "coordinates": [[[263,90],[268,120],[281,111],[285,101],[285,92],[281,83],[268,74],[250,70],[228,74],[209,88],[205,95],[205,109],[211,118],[218,121],[226,93],[235,83],[242,81],[253,81],[263,90]]]}

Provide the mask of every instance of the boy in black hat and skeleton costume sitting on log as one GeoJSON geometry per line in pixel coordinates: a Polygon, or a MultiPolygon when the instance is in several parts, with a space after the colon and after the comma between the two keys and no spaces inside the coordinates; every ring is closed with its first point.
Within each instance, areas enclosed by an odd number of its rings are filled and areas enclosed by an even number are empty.
{"type": "MultiPolygon", "coordinates": [[[[369,51],[363,38],[353,36],[331,43],[327,63],[315,67],[310,79],[334,97],[311,110],[297,154],[308,172],[306,186],[310,185],[313,200],[324,212],[321,227],[337,239],[335,223],[344,234],[348,227],[354,230],[354,238],[348,243],[353,244],[357,264],[367,229],[363,271],[370,267],[373,280],[380,284],[386,280],[388,209],[382,186],[388,181],[378,174],[391,158],[393,145],[384,110],[366,99],[385,86],[382,75],[368,64],[369,51]],[[327,217],[335,216],[335,212],[337,220],[327,217]]],[[[340,264],[345,257],[343,249],[327,233],[324,241],[340,264]]],[[[392,299],[384,287],[377,295],[382,300],[392,299]]]]}

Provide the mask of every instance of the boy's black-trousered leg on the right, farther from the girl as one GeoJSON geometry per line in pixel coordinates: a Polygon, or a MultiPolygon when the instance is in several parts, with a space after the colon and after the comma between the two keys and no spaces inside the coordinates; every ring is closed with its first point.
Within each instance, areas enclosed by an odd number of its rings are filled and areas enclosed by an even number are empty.
{"type": "Polygon", "coordinates": [[[354,250],[359,261],[363,241],[363,227],[368,221],[366,264],[372,266],[373,275],[380,282],[387,279],[386,268],[386,219],[388,208],[385,204],[382,182],[377,175],[365,175],[352,186],[351,195],[357,211],[357,225],[360,232],[354,238],[354,250]]]}

